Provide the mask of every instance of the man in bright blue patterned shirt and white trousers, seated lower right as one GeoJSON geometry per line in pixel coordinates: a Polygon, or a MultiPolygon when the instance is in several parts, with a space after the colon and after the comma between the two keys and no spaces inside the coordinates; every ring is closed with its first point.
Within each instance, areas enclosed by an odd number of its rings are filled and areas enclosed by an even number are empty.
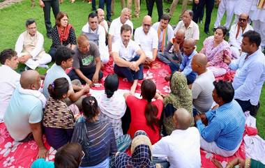
{"type": "Polygon", "coordinates": [[[201,135],[201,148],[205,151],[229,157],[239,149],[245,129],[245,116],[234,98],[229,82],[213,82],[213,100],[219,105],[205,114],[195,115],[201,135]],[[208,125],[204,125],[204,123],[208,125]]]}

